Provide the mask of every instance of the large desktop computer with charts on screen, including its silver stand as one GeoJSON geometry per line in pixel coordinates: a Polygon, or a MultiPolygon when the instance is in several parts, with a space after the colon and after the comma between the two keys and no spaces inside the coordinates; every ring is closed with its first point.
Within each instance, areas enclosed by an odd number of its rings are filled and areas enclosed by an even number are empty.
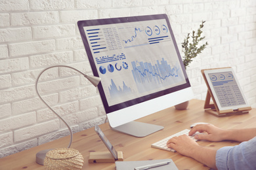
{"type": "Polygon", "coordinates": [[[166,14],[77,22],[112,129],[143,137],[162,126],[134,121],[192,99],[166,14]]]}

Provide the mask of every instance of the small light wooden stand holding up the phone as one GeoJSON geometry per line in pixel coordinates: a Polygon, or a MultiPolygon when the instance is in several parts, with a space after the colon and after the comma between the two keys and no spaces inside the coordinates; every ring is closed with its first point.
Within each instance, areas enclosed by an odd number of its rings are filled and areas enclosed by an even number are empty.
{"type": "Polygon", "coordinates": [[[117,151],[117,160],[112,156],[110,152],[90,152],[89,163],[107,163],[123,161],[123,152],[117,151]]]}

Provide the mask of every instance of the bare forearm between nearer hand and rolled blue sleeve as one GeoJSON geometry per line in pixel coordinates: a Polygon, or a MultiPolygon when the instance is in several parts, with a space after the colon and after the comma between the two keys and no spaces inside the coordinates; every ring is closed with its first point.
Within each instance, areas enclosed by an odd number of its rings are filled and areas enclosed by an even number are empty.
{"type": "Polygon", "coordinates": [[[217,149],[215,148],[195,146],[194,148],[192,148],[188,156],[194,158],[197,161],[200,161],[201,163],[207,165],[208,167],[217,169],[215,160],[216,153],[217,149]]]}

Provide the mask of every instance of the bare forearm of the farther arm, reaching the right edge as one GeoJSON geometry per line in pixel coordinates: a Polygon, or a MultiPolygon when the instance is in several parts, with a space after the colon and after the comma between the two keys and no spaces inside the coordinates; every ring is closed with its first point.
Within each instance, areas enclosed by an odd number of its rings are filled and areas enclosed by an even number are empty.
{"type": "Polygon", "coordinates": [[[256,128],[225,130],[223,140],[244,142],[256,136],[256,128]]]}

